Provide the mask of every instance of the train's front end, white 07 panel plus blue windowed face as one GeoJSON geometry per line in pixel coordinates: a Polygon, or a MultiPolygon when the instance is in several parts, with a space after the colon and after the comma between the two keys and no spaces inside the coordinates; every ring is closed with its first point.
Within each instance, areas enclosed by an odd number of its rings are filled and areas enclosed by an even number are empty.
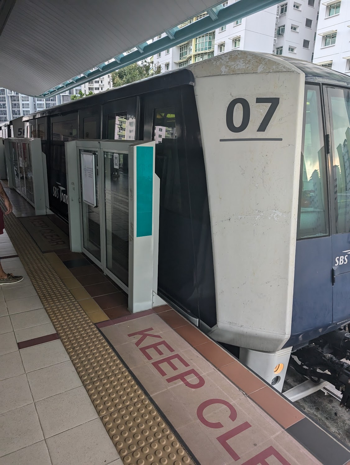
{"type": "Polygon", "coordinates": [[[279,390],[292,350],[350,320],[349,91],[323,88],[329,70],[302,63],[233,51],[191,67],[216,286],[209,334],[279,390]]]}

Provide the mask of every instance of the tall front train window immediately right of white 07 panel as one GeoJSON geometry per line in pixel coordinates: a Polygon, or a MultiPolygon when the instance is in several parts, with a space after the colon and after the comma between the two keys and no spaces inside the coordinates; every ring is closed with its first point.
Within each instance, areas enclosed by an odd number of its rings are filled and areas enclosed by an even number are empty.
{"type": "Polygon", "coordinates": [[[321,99],[317,86],[305,86],[304,134],[297,239],[329,234],[321,99]]]}

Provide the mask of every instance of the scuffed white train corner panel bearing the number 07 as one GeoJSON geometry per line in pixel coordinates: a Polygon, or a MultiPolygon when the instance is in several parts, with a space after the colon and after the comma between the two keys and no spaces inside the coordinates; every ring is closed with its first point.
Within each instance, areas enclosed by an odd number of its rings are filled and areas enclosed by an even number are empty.
{"type": "Polygon", "coordinates": [[[258,53],[210,61],[190,67],[211,214],[217,326],[209,334],[274,352],[291,334],[304,73],[258,53]]]}

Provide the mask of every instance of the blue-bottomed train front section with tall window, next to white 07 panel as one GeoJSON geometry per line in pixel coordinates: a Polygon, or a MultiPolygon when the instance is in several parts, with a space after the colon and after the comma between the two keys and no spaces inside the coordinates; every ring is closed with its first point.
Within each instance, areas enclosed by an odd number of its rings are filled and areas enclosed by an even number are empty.
{"type": "Polygon", "coordinates": [[[332,323],[332,244],[320,86],[306,85],[299,184],[292,344],[332,323]],[[317,320],[317,321],[316,321],[317,320]]]}

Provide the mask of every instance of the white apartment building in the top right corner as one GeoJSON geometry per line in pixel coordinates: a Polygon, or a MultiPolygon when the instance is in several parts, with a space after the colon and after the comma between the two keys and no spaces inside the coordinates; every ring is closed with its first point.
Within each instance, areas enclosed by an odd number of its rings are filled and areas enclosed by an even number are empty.
{"type": "Polygon", "coordinates": [[[320,5],[314,63],[341,73],[350,72],[350,1],[320,5]]]}

